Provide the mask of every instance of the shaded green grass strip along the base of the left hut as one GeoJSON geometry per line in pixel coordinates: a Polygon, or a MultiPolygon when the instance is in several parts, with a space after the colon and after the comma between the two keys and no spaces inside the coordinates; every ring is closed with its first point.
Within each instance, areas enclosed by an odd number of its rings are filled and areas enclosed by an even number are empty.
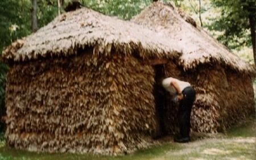
{"type": "Polygon", "coordinates": [[[150,159],[154,157],[159,157],[163,153],[167,153],[170,150],[180,150],[182,149],[179,145],[170,145],[166,143],[160,146],[154,146],[150,149],[139,150],[136,153],[129,155],[121,155],[117,157],[102,156],[102,155],[92,155],[92,154],[51,154],[51,153],[36,153],[24,150],[11,149],[7,146],[0,148],[0,159],[97,159],[97,160],[129,160],[129,159],[150,159]]]}

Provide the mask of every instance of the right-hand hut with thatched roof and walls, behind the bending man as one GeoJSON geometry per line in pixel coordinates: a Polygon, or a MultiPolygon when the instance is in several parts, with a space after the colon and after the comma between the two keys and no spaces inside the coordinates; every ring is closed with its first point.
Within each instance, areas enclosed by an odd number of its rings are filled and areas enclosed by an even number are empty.
{"type": "MultiPolygon", "coordinates": [[[[195,87],[193,130],[218,132],[255,116],[253,66],[210,37],[192,18],[168,3],[154,2],[132,21],[162,32],[182,46],[179,59],[159,66],[158,74],[180,78],[195,87]]],[[[173,133],[177,107],[168,96],[159,98],[158,110],[163,114],[166,132],[173,133]]]]}

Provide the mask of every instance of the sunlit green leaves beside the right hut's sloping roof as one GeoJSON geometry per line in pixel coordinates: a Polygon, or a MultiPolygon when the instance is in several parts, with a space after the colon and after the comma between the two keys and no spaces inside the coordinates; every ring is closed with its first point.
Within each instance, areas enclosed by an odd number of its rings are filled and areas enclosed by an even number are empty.
{"type": "Polygon", "coordinates": [[[229,48],[251,46],[249,15],[254,14],[250,8],[255,7],[255,0],[211,0],[214,7],[221,9],[221,16],[216,22],[207,26],[209,30],[224,32],[218,37],[229,48]]]}

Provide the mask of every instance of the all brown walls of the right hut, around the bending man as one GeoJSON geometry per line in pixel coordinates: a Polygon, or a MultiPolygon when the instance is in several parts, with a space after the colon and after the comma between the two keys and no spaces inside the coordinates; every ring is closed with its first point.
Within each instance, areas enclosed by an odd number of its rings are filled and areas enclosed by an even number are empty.
{"type": "MultiPolygon", "coordinates": [[[[222,132],[255,115],[253,85],[249,76],[218,65],[202,65],[184,72],[175,62],[166,64],[164,73],[166,77],[188,81],[195,88],[191,126],[196,132],[222,132]]],[[[169,95],[166,96],[168,99],[169,95]]],[[[165,108],[168,108],[165,127],[168,132],[175,133],[178,127],[177,106],[169,100],[165,108]]]]}

